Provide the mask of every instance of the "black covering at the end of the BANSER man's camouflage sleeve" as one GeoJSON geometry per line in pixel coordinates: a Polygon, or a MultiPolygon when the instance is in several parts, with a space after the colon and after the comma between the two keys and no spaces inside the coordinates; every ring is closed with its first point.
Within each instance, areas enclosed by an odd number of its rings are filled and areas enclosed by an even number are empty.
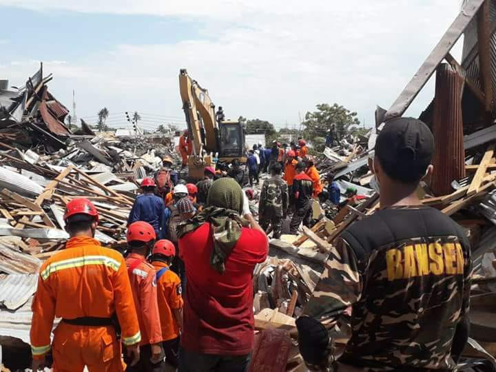
{"type": "Polygon", "coordinates": [[[308,368],[322,371],[329,366],[331,339],[329,331],[321,322],[309,316],[296,320],[298,329],[298,348],[308,368]]]}

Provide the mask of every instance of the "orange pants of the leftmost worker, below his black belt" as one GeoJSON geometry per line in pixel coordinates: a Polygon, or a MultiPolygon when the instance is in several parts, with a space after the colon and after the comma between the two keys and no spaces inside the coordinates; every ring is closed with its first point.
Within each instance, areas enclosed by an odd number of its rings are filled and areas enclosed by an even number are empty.
{"type": "Polygon", "coordinates": [[[54,331],[53,371],[123,372],[121,344],[113,327],[75,326],[61,322],[54,331]]]}

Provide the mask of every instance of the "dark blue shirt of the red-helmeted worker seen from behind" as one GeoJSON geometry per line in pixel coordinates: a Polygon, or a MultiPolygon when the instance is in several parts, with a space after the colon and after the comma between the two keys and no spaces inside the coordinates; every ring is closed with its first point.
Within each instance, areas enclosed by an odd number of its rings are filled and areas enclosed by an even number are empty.
{"type": "MultiPolygon", "coordinates": [[[[134,201],[127,224],[136,221],[145,221],[153,226],[155,233],[159,235],[163,224],[165,205],[163,200],[154,194],[138,195],[134,201]]],[[[158,236],[157,236],[158,239],[158,236]]]]}

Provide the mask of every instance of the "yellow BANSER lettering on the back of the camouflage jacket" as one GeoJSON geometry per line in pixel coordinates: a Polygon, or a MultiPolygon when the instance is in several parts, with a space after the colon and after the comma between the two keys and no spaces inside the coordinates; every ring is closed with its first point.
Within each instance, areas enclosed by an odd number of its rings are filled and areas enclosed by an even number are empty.
{"type": "Polygon", "coordinates": [[[426,275],[464,273],[464,254],[459,243],[438,242],[406,245],[386,251],[388,280],[426,275]]]}

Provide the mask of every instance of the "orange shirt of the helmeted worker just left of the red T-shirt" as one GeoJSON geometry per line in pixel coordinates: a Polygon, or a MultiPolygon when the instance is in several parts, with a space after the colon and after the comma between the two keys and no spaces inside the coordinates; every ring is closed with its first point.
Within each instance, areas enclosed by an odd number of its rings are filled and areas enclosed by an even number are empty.
{"type": "Polygon", "coordinates": [[[152,262],[156,272],[166,269],[165,273],[157,280],[158,311],[161,317],[162,340],[169,341],[179,337],[179,324],[174,318],[172,309],[183,308],[180,279],[169,269],[165,262],[152,262]]]}

